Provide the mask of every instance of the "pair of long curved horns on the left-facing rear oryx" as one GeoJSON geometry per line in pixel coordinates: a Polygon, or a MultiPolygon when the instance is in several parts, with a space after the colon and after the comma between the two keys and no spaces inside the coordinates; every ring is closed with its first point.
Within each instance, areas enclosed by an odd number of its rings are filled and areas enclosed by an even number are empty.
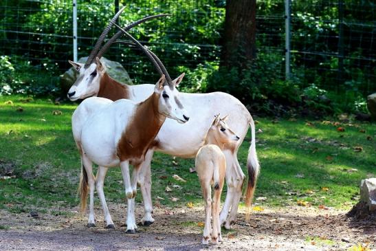
{"type": "MultiPolygon", "coordinates": [[[[100,34],[100,36],[98,38],[98,41],[96,42],[96,45],[94,46],[93,50],[89,54],[89,57],[87,58],[87,61],[85,63],[85,68],[89,67],[89,65],[91,65],[91,63],[93,63],[93,61],[95,60],[96,57],[101,58],[102,55],[104,54],[104,52],[106,52],[109,49],[109,47],[111,46],[111,44],[114,43],[116,41],[116,39],[118,39],[122,35],[123,32],[122,32],[122,30],[120,30],[115,35],[113,35],[111,37],[111,39],[109,39],[109,41],[107,41],[106,44],[104,44],[104,46],[102,47],[101,50],[99,50],[100,45],[102,45],[105,37],[107,36],[107,34],[109,33],[109,31],[111,30],[112,25],[120,17],[120,14],[122,14],[122,12],[124,11],[124,9],[125,9],[125,6],[123,8],[121,8],[118,11],[118,13],[115,14],[115,16],[113,16],[113,18],[111,19],[111,21],[109,22],[109,24],[107,25],[107,27],[104,28],[102,34],[100,34]]],[[[166,16],[170,16],[170,15],[169,14],[157,14],[157,15],[153,15],[153,16],[144,17],[143,19],[135,21],[135,22],[133,22],[133,23],[131,23],[129,25],[126,25],[126,27],[123,30],[125,30],[125,31],[126,30],[130,30],[131,28],[135,27],[136,25],[139,25],[140,23],[144,23],[145,21],[148,21],[148,20],[151,20],[151,19],[155,19],[157,17],[166,17],[166,16]]]]}

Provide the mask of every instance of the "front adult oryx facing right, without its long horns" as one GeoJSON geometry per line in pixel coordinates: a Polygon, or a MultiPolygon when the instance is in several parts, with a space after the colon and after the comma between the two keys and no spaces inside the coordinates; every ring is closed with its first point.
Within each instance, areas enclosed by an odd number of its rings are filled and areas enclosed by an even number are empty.
{"type": "Polygon", "coordinates": [[[140,163],[144,162],[146,152],[154,144],[166,117],[180,123],[188,121],[188,113],[179,101],[175,84],[165,81],[163,75],[155,85],[153,94],[143,102],[126,99],[113,102],[107,98],[92,97],[84,100],[74,111],[72,131],[82,163],[79,187],[81,208],[85,210],[89,192],[89,227],[95,226],[93,195],[97,183],[106,227],[113,228],[101,182],[109,167],[120,166],[128,198],[126,232],[135,232],[134,198],[140,163]],[[99,166],[97,178],[93,176],[92,163],[99,166]],[[129,164],[134,166],[132,179],[129,164]]]}

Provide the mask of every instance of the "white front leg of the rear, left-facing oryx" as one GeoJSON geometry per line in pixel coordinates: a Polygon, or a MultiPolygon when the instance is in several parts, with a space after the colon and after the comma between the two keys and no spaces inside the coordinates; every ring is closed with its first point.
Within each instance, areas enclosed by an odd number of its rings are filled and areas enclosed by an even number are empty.
{"type": "Polygon", "coordinates": [[[142,199],[144,201],[145,215],[141,219],[141,223],[144,226],[149,226],[155,221],[151,215],[153,212],[151,201],[151,159],[153,153],[153,150],[148,150],[144,162],[140,165],[140,171],[138,173],[138,184],[140,185],[142,199]]]}

